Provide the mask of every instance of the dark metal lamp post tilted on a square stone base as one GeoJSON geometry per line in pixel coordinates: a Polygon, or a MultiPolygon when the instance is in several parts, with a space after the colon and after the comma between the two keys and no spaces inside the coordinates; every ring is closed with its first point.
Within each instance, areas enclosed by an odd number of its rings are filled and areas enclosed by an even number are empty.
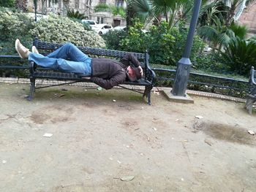
{"type": "Polygon", "coordinates": [[[201,1],[202,0],[195,0],[195,6],[189,26],[189,33],[187,35],[185,50],[181,60],[178,61],[176,78],[174,80],[173,90],[171,91],[174,96],[186,96],[187,82],[189,80],[189,72],[191,68],[191,61],[189,59],[189,56],[192,49],[193,37],[195,34],[195,27],[197,26],[197,19],[200,11],[201,1]]]}

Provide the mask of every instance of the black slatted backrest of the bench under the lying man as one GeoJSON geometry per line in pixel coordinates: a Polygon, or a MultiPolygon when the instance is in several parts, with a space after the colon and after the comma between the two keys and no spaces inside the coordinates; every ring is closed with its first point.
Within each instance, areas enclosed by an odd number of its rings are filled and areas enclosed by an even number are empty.
{"type": "MultiPolygon", "coordinates": [[[[54,50],[61,47],[63,44],[56,44],[56,43],[49,43],[49,42],[41,42],[38,39],[34,39],[33,45],[37,47],[39,50],[45,51],[45,53],[53,52],[54,50]]],[[[121,51],[121,50],[107,50],[102,48],[92,48],[92,47],[80,47],[78,48],[88,55],[102,55],[102,56],[108,56],[113,58],[123,58],[124,55],[131,52],[121,51]]],[[[145,65],[145,68],[148,68],[148,61],[149,61],[149,55],[148,53],[132,53],[135,55],[136,58],[138,58],[139,61],[141,61],[142,64],[145,65]]]]}

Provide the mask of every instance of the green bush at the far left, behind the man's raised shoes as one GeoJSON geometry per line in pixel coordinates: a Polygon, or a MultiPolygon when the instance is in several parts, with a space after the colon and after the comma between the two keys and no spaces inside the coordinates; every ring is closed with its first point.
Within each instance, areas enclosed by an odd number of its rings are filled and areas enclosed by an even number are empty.
{"type": "MultiPolygon", "coordinates": [[[[15,50],[15,39],[31,47],[32,37],[29,30],[34,27],[33,20],[15,9],[0,7],[0,55],[18,55],[15,50]]],[[[23,66],[28,61],[19,58],[0,58],[0,65],[23,66]]],[[[27,77],[24,70],[1,69],[0,77],[27,77]]]]}

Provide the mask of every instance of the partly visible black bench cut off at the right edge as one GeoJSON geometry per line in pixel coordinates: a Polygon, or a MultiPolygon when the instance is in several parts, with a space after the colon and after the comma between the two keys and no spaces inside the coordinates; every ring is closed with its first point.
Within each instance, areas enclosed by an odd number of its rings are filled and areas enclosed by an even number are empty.
{"type": "Polygon", "coordinates": [[[252,114],[252,105],[256,102],[256,70],[252,66],[249,77],[249,93],[246,96],[246,109],[252,114]]]}

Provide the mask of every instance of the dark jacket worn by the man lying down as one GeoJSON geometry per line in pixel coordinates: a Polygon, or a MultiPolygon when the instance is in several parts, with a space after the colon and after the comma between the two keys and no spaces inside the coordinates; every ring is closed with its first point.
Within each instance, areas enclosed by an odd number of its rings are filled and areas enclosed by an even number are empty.
{"type": "Polygon", "coordinates": [[[138,59],[128,53],[120,61],[110,58],[92,58],[91,81],[105,89],[123,83],[127,78],[126,69],[130,65],[140,66],[138,59]]]}

